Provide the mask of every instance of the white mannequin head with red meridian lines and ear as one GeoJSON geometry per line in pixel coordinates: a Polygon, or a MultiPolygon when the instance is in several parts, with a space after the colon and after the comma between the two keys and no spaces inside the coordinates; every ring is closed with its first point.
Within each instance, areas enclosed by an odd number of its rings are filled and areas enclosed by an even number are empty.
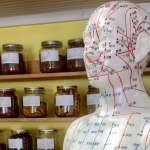
{"type": "Polygon", "coordinates": [[[140,78],[150,56],[150,13],[138,5],[114,1],[98,7],[83,33],[84,61],[92,86],[107,88],[140,78]]]}

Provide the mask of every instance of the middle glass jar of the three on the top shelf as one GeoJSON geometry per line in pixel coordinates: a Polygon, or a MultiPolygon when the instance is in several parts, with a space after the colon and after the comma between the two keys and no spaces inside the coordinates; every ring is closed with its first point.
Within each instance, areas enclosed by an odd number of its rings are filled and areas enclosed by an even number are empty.
{"type": "Polygon", "coordinates": [[[62,54],[62,42],[43,41],[40,49],[40,70],[42,73],[65,71],[65,56],[62,54]]]}

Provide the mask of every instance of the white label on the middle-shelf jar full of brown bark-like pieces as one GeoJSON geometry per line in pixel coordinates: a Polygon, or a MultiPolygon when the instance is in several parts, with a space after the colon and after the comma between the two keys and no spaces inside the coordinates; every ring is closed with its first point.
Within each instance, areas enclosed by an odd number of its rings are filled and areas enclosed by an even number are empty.
{"type": "Polygon", "coordinates": [[[74,105],[73,95],[57,95],[56,106],[74,105]]]}

